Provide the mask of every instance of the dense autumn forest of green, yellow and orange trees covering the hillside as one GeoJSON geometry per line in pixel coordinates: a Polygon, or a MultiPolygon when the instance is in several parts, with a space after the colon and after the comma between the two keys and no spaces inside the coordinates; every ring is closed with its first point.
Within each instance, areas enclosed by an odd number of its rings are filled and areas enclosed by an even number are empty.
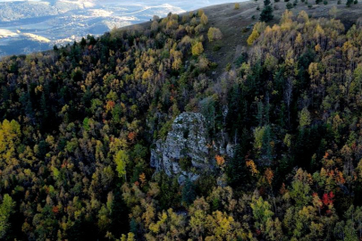
{"type": "Polygon", "coordinates": [[[0,239],[361,240],[362,22],[248,36],[217,77],[203,10],[4,57],[0,239]],[[211,164],[181,182],[150,159],[184,112],[211,164]]]}

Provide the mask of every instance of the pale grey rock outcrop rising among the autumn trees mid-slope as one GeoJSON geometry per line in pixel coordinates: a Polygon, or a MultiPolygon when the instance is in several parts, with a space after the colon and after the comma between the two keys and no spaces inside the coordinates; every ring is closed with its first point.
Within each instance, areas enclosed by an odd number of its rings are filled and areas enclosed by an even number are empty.
{"type": "Polygon", "coordinates": [[[178,176],[179,183],[198,179],[201,171],[215,168],[207,148],[206,120],[200,113],[183,112],[174,121],[165,141],[151,150],[151,167],[178,176]]]}

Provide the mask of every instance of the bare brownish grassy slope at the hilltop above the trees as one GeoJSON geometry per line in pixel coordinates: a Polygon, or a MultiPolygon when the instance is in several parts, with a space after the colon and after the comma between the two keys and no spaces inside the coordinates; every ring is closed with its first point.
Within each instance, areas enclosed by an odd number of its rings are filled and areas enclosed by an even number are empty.
{"type": "MultiPolygon", "coordinates": [[[[356,22],[361,21],[360,12],[362,12],[362,5],[355,4],[351,8],[346,7],[345,3],[337,4],[337,1],[330,1],[324,5],[306,4],[307,2],[300,2],[296,6],[290,9],[294,15],[297,15],[300,11],[306,11],[310,17],[313,18],[329,18],[329,11],[333,6],[337,7],[336,19],[340,20],[346,29],[349,29],[356,22]],[[308,6],[310,5],[310,6],[308,6]]],[[[290,0],[290,3],[291,0],[290,0]]],[[[209,18],[209,26],[214,26],[218,29],[223,29],[223,41],[206,43],[205,52],[208,59],[218,63],[217,73],[221,74],[227,63],[232,63],[238,53],[235,53],[236,49],[242,46],[247,46],[247,39],[251,33],[253,25],[259,21],[258,16],[263,9],[263,1],[247,1],[241,2],[240,9],[234,9],[234,3],[231,4],[218,4],[203,8],[206,15],[209,18]],[[257,10],[257,6],[260,10],[257,10]],[[252,19],[255,16],[255,19],[252,19]],[[222,44],[224,43],[224,44],[222,44]],[[213,51],[215,46],[223,46],[218,51],[213,51]]],[[[285,2],[273,3],[274,7],[274,20],[269,22],[269,25],[278,23],[282,17],[282,13],[287,10],[285,2]]],[[[186,12],[184,14],[189,14],[186,12]]],[[[184,14],[181,14],[184,15],[184,14]]],[[[127,26],[123,29],[143,28],[143,26],[149,27],[150,22],[127,26]]],[[[216,74],[217,76],[217,74],[216,74]]]]}

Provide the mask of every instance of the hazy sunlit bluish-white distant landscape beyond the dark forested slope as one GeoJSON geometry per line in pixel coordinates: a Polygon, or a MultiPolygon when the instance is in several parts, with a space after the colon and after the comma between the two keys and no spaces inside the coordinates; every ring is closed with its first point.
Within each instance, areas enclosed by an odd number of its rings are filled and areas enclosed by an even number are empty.
{"type": "Polygon", "coordinates": [[[44,51],[88,34],[227,1],[0,1],[0,56],[44,51]],[[14,47],[16,46],[16,47],[14,47]]]}

